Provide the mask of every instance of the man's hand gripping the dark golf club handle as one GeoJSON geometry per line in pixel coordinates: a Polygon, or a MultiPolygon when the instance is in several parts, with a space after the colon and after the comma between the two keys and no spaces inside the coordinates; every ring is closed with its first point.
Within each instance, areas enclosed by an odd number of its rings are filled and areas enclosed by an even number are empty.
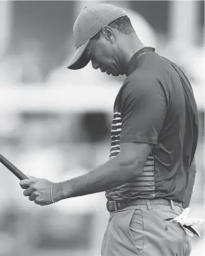
{"type": "MultiPolygon", "coordinates": [[[[23,191],[23,194],[26,197],[28,197],[30,201],[34,201],[35,204],[39,204],[39,205],[53,204],[51,199],[52,182],[49,182],[49,180],[46,180],[46,179],[38,179],[36,177],[32,177],[29,175],[27,175],[27,177],[29,179],[21,180],[19,182],[21,188],[25,189],[23,191]]],[[[53,186],[55,184],[57,183],[54,183],[53,186]]],[[[53,198],[53,201],[55,200],[54,202],[59,201],[56,198],[56,194],[53,194],[53,190],[52,190],[52,198],[53,198]]]]}

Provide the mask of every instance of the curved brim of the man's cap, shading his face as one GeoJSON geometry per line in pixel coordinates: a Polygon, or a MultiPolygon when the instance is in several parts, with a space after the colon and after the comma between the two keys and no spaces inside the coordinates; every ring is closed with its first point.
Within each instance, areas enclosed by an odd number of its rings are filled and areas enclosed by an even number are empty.
{"type": "Polygon", "coordinates": [[[73,58],[71,59],[68,69],[82,69],[89,63],[89,59],[83,56],[85,49],[89,44],[89,40],[82,44],[78,49],[75,51],[73,58]]]}

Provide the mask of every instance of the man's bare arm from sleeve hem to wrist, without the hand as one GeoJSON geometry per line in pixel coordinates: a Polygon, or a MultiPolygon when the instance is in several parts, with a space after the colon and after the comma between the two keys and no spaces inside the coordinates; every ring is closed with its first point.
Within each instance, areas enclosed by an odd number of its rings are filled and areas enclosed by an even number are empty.
{"type": "Polygon", "coordinates": [[[117,157],[85,175],[53,184],[53,200],[59,201],[113,189],[141,176],[151,149],[146,143],[121,143],[117,157]]]}

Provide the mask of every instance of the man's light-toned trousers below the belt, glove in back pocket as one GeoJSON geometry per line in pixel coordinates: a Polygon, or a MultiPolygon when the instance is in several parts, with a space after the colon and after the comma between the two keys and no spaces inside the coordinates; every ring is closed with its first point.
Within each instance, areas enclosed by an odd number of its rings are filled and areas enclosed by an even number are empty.
{"type": "Polygon", "coordinates": [[[102,242],[102,256],[189,256],[191,239],[178,223],[181,207],[146,205],[110,214],[102,242]]]}

